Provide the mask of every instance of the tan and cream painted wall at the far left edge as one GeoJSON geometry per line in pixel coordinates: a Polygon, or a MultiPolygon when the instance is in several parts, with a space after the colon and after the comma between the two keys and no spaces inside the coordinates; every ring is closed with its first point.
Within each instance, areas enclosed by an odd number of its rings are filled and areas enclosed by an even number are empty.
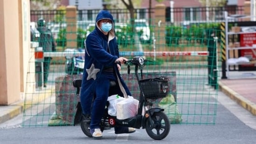
{"type": "Polygon", "coordinates": [[[28,53],[30,43],[29,12],[29,0],[0,0],[0,105],[20,101],[26,89],[28,55],[24,53],[28,53]]]}

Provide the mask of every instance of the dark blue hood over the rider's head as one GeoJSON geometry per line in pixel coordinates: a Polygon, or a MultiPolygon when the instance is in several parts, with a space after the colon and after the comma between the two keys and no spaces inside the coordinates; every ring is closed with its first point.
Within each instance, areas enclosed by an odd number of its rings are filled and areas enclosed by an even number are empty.
{"type": "Polygon", "coordinates": [[[99,14],[97,15],[97,17],[96,17],[96,28],[99,29],[99,30],[101,30],[101,28],[98,26],[98,21],[100,21],[102,19],[109,19],[109,20],[112,21],[112,29],[109,32],[109,34],[111,34],[111,37],[114,37],[115,36],[115,31],[114,31],[115,21],[113,19],[113,16],[110,14],[109,11],[101,10],[99,12],[99,14]]]}

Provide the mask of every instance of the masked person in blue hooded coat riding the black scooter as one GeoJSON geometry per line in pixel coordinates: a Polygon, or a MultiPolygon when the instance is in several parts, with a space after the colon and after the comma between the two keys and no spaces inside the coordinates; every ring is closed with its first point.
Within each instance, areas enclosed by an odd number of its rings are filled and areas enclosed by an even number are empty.
{"type": "MultiPolygon", "coordinates": [[[[90,133],[95,139],[102,138],[101,118],[109,96],[110,82],[122,84],[124,89],[116,89],[116,94],[123,96],[131,93],[119,70],[121,63],[127,61],[119,57],[118,44],[114,31],[114,19],[109,11],[102,10],[96,17],[95,29],[87,36],[85,45],[85,65],[81,87],[81,106],[84,119],[90,122],[90,133]]],[[[115,127],[115,133],[132,133],[134,128],[115,127]]]]}

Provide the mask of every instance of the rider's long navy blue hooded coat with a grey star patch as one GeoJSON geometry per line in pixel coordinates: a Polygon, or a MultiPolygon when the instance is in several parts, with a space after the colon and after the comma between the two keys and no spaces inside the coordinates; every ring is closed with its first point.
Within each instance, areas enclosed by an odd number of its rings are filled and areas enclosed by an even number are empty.
{"type": "MultiPolygon", "coordinates": [[[[131,96],[129,89],[120,76],[116,59],[119,57],[118,44],[114,31],[114,20],[109,11],[102,10],[96,17],[95,29],[87,36],[85,40],[85,64],[83,69],[83,81],[81,88],[81,103],[88,95],[94,96],[96,83],[99,75],[101,75],[104,66],[111,66],[125,88],[126,94],[131,96]],[[98,21],[102,19],[110,19],[112,21],[112,29],[108,34],[108,38],[101,32],[98,21]],[[109,49],[109,52],[108,52],[109,49]]],[[[84,112],[84,110],[83,110],[84,112]]]]}

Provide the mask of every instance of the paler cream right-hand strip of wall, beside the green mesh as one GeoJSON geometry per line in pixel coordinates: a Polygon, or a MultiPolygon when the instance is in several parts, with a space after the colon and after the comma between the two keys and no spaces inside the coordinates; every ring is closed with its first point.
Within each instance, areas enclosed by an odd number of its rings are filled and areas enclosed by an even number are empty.
{"type": "Polygon", "coordinates": [[[20,50],[21,50],[21,98],[25,92],[31,94],[35,91],[35,48],[30,48],[30,5],[29,0],[21,1],[20,14],[20,50]]]}

